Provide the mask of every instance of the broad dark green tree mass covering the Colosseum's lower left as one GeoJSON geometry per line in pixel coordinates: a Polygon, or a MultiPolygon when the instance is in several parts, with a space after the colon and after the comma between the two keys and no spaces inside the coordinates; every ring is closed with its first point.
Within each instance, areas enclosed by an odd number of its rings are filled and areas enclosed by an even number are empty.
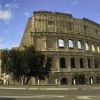
{"type": "Polygon", "coordinates": [[[31,77],[45,79],[49,76],[52,60],[34,46],[24,47],[24,50],[3,50],[1,54],[2,69],[22,85],[28,84],[31,77]]]}

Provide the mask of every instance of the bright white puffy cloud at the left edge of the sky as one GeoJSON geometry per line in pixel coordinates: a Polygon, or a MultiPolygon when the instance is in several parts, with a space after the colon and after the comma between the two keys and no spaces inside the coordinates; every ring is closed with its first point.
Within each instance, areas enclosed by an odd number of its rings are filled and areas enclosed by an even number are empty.
{"type": "Polygon", "coordinates": [[[12,17],[12,13],[10,11],[0,10],[0,20],[9,20],[12,17]]]}

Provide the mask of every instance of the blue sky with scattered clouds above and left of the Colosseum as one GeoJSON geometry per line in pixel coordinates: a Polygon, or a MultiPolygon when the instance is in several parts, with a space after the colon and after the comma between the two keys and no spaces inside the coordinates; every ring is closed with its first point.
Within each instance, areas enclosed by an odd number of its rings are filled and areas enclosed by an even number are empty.
{"type": "Polygon", "coordinates": [[[67,12],[100,23],[100,0],[0,0],[0,48],[20,44],[35,10],[67,12]]]}

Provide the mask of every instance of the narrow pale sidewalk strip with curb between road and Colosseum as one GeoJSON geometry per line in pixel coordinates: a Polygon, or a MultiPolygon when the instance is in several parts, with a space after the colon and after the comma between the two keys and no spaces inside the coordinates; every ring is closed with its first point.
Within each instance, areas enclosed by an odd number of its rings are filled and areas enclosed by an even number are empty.
{"type": "Polygon", "coordinates": [[[76,86],[0,86],[0,89],[12,89],[12,90],[90,90],[90,89],[100,89],[100,85],[76,85],[76,86]]]}

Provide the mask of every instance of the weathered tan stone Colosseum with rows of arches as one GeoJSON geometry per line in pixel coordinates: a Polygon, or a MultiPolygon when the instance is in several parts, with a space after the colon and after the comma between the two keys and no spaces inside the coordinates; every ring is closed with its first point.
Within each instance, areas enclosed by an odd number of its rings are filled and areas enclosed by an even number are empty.
{"type": "Polygon", "coordinates": [[[52,57],[46,84],[100,84],[100,25],[71,14],[35,11],[21,44],[52,57]]]}

